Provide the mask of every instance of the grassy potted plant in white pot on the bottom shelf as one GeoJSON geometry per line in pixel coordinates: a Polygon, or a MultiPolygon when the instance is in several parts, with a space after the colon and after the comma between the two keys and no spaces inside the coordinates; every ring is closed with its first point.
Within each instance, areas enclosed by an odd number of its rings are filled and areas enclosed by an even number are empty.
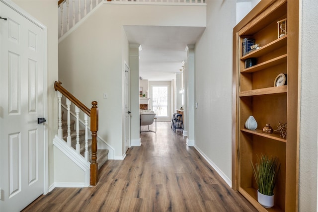
{"type": "Polygon", "coordinates": [[[251,165],[258,186],[257,201],[264,208],[271,208],[274,206],[274,187],[280,169],[278,158],[261,155],[255,167],[252,162],[251,165]]]}

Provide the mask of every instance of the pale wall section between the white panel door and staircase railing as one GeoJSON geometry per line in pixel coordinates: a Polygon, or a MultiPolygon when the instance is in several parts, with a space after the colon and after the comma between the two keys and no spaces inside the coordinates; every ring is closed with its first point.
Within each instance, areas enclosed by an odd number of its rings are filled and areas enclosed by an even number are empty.
{"type": "Polygon", "coordinates": [[[58,80],[58,2],[56,0],[13,0],[18,6],[23,8],[47,27],[47,100],[48,117],[46,125],[48,127],[48,156],[49,156],[49,186],[54,183],[53,164],[53,139],[58,129],[58,109],[57,95],[53,84],[58,80]]]}

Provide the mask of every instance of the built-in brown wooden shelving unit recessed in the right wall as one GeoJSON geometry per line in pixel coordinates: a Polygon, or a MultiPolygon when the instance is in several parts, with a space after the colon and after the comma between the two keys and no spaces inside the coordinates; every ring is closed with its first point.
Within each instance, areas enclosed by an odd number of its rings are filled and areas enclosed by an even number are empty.
{"type": "Polygon", "coordinates": [[[299,1],[262,0],[234,28],[233,70],[233,187],[258,211],[298,211],[299,114],[298,114],[299,1]],[[287,34],[278,36],[277,21],[287,18],[287,34]],[[260,48],[242,56],[244,38],[260,48]],[[245,61],[256,64],[246,68],[245,61]],[[274,86],[280,73],[287,84],[274,86]],[[252,115],[256,130],[244,124],[252,115]],[[274,130],[287,122],[287,136],[262,132],[266,124],[274,130]],[[281,169],[274,190],[275,205],[263,208],[257,202],[257,185],[251,162],[267,154],[278,157],[281,169]]]}

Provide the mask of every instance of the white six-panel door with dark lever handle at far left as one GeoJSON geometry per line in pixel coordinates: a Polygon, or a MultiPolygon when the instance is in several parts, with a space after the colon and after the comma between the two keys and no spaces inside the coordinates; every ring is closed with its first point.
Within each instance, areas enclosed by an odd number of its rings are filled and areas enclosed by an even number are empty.
{"type": "Polygon", "coordinates": [[[0,2],[1,212],[44,192],[43,29],[0,2]]]}

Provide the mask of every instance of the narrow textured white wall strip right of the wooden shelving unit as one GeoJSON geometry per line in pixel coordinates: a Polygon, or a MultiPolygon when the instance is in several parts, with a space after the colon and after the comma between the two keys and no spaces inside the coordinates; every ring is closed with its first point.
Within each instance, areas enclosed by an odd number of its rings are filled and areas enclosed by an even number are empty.
{"type": "Polygon", "coordinates": [[[317,211],[318,1],[303,0],[301,20],[301,106],[299,211],[317,211]]]}

